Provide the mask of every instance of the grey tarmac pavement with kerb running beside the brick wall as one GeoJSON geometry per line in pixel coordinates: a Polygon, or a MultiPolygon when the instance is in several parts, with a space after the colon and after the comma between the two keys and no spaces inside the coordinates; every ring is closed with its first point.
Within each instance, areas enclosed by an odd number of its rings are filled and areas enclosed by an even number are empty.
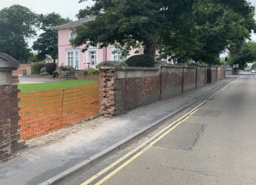
{"type": "Polygon", "coordinates": [[[0,163],[0,184],[60,184],[73,174],[103,161],[237,77],[227,76],[195,91],[134,109],[104,121],[96,128],[67,135],[61,142],[21,150],[9,161],[0,163]]]}

